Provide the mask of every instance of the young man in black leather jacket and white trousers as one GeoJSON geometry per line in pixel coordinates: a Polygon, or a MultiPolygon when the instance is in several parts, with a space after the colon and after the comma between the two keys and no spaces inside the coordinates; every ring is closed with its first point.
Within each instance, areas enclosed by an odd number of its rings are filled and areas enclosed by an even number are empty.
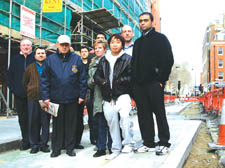
{"type": "Polygon", "coordinates": [[[124,53],[125,40],[120,34],[112,35],[108,43],[111,52],[107,52],[100,60],[94,78],[95,83],[101,88],[103,111],[112,137],[112,154],[106,157],[107,160],[111,160],[116,158],[121,150],[124,153],[132,151],[132,137],[129,134],[131,56],[124,53]]]}

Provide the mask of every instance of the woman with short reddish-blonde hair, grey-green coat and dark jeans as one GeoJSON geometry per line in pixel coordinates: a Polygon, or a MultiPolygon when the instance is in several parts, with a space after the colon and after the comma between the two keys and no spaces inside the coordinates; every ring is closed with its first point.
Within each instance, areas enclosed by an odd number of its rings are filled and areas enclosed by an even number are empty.
{"type": "Polygon", "coordinates": [[[93,125],[97,128],[97,152],[93,157],[100,157],[106,154],[106,146],[111,153],[112,140],[109,134],[109,128],[107,121],[105,119],[103,109],[102,109],[102,94],[98,85],[95,84],[94,75],[97,70],[97,65],[105,55],[107,51],[107,41],[106,40],[96,40],[94,43],[95,57],[92,58],[88,70],[88,86],[94,89],[94,104],[93,104],[93,115],[94,123],[93,125]],[[107,144],[107,145],[106,145],[107,144]]]}

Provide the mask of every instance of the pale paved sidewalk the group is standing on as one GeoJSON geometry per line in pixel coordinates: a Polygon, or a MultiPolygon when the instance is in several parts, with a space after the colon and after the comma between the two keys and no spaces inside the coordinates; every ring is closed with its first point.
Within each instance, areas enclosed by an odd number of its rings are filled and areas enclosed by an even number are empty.
{"type": "MultiPolygon", "coordinates": [[[[188,103],[177,104],[166,107],[168,111],[168,122],[171,133],[171,148],[170,153],[164,156],[156,156],[155,153],[129,153],[120,154],[112,161],[105,160],[105,157],[93,158],[94,146],[89,142],[89,132],[86,130],[82,137],[82,145],[85,146],[83,150],[76,150],[76,157],[68,157],[64,152],[57,158],[50,158],[50,154],[39,152],[38,154],[31,155],[27,151],[12,151],[1,153],[0,167],[88,167],[92,168],[181,168],[189,155],[192,144],[200,128],[201,121],[185,120],[184,118],[176,115],[170,115],[171,112],[178,114],[183,108],[188,106],[188,103]],[[16,156],[16,157],[15,157],[16,156]],[[41,160],[41,162],[40,162],[41,160]],[[9,166],[10,164],[10,166],[9,166]],[[21,165],[21,166],[18,166],[21,165]]],[[[133,116],[134,121],[134,140],[141,141],[139,125],[137,116],[133,116]]],[[[18,142],[20,139],[20,130],[17,118],[13,119],[0,119],[0,127],[4,128],[0,132],[0,149],[5,149],[5,144],[9,145],[14,141],[18,142]]],[[[18,145],[18,144],[17,144],[18,145]]],[[[17,146],[18,148],[18,146],[17,146]]],[[[14,148],[15,149],[15,148],[14,148]]],[[[5,150],[6,151],[6,150],[5,150]]]]}

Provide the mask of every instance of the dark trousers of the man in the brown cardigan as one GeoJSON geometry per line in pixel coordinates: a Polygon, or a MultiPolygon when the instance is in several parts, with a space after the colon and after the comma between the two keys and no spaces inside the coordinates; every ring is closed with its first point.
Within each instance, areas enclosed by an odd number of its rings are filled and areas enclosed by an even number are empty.
{"type": "Polygon", "coordinates": [[[28,123],[31,148],[47,147],[50,114],[41,109],[38,100],[28,100],[28,123]]]}

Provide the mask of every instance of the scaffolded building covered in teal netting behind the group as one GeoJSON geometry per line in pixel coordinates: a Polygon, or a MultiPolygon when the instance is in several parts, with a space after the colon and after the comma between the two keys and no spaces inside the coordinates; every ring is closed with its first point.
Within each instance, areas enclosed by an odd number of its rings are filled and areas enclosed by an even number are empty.
{"type": "Polygon", "coordinates": [[[128,24],[135,40],[140,36],[139,14],[152,8],[150,0],[63,0],[61,12],[44,12],[43,3],[44,0],[0,0],[0,114],[9,115],[9,109],[14,109],[6,73],[10,58],[20,51],[21,39],[31,39],[33,48],[47,46],[50,54],[56,50],[57,37],[66,34],[71,37],[74,50],[79,51],[83,45],[92,48],[96,33],[104,32],[109,37],[128,24]],[[33,36],[24,35],[21,30],[22,10],[31,11],[34,16],[34,20],[25,19],[28,25],[34,22],[33,36]]]}

